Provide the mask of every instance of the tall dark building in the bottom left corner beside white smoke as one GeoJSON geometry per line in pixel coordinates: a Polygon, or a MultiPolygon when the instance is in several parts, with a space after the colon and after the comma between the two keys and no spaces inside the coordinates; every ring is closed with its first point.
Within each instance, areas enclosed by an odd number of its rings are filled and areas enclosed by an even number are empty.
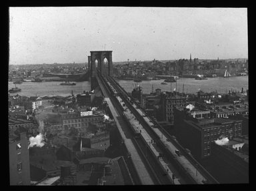
{"type": "Polygon", "coordinates": [[[28,140],[25,132],[9,134],[10,185],[30,185],[28,140]]]}

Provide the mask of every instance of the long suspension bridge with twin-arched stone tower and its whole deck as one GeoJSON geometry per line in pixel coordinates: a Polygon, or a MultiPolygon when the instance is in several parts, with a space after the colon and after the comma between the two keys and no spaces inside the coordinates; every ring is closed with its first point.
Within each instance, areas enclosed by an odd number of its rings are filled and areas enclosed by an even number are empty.
{"type": "Polygon", "coordinates": [[[91,51],[88,67],[91,91],[101,90],[117,124],[133,184],[219,183],[113,79],[112,51],[91,51]]]}

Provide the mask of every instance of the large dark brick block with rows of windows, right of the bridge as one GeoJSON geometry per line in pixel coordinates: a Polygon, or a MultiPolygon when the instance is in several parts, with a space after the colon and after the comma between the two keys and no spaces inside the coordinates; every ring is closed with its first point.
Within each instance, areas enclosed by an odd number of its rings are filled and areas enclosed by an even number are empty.
{"type": "Polygon", "coordinates": [[[242,120],[211,118],[210,110],[174,108],[174,132],[179,142],[201,160],[211,155],[211,142],[241,136],[242,120]]]}

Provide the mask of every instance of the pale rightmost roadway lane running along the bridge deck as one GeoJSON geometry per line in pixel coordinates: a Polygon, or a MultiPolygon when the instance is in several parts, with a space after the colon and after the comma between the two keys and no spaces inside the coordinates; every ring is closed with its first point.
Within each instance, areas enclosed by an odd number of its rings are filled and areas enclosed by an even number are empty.
{"type": "MultiPolygon", "coordinates": [[[[112,81],[114,80],[112,79],[112,81]]],[[[120,85],[115,81],[113,83],[115,83],[116,86],[120,87],[120,85]]],[[[128,98],[128,100],[131,100],[131,98],[129,98],[129,95],[122,88],[119,88],[119,90],[115,91],[122,91],[123,94],[128,98]]],[[[184,155],[178,156],[175,152],[176,150],[179,150],[177,146],[175,146],[170,141],[170,139],[167,138],[167,136],[165,136],[165,134],[163,134],[163,132],[159,130],[159,128],[154,128],[155,125],[153,124],[153,122],[151,122],[151,119],[146,116],[146,114],[143,112],[143,110],[139,108],[139,106],[137,106],[134,102],[130,102],[129,104],[133,107],[132,112],[134,112],[135,110],[140,117],[143,117],[143,120],[147,123],[149,128],[151,128],[151,130],[153,130],[153,132],[155,132],[155,134],[159,136],[161,142],[166,146],[167,150],[169,150],[171,156],[173,156],[179,166],[187,172],[187,174],[190,176],[191,179],[193,179],[196,184],[203,184],[203,182],[206,182],[207,179],[208,181],[209,179],[211,179],[211,183],[218,183],[217,180],[215,180],[210,174],[207,174],[207,172],[203,172],[204,170],[202,170],[202,168],[198,168],[197,164],[192,164],[187,157],[185,157],[184,155]],[[205,174],[207,174],[207,176],[205,176],[205,174]]]]}

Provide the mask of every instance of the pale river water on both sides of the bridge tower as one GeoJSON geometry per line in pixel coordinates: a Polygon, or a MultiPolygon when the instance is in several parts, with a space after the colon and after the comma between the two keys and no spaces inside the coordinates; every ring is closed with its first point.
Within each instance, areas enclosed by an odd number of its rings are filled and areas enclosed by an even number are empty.
{"type": "MultiPolygon", "coordinates": [[[[135,84],[139,85],[143,93],[149,94],[155,89],[161,89],[161,91],[171,91],[171,89],[176,89],[176,83],[167,83],[167,85],[161,85],[163,80],[157,81],[142,81],[141,83],[135,83],[133,81],[123,81],[117,80],[117,82],[129,93],[133,91],[135,84]]],[[[83,91],[90,91],[91,84],[88,81],[77,82],[77,85],[73,86],[63,86],[59,85],[61,82],[42,82],[42,83],[33,83],[33,82],[23,82],[21,85],[17,85],[21,89],[19,93],[11,93],[10,95],[23,95],[23,96],[69,96],[71,91],[74,95],[81,94],[83,91]]],[[[15,87],[12,82],[8,82],[8,89],[15,87]]],[[[243,88],[244,91],[249,89],[248,85],[248,76],[245,77],[216,77],[208,78],[207,80],[195,80],[188,78],[181,78],[177,80],[177,91],[184,93],[197,93],[199,89],[204,92],[217,91],[218,93],[226,93],[229,90],[231,91],[241,91],[243,88]],[[184,85],[184,89],[183,89],[184,85]]]]}

